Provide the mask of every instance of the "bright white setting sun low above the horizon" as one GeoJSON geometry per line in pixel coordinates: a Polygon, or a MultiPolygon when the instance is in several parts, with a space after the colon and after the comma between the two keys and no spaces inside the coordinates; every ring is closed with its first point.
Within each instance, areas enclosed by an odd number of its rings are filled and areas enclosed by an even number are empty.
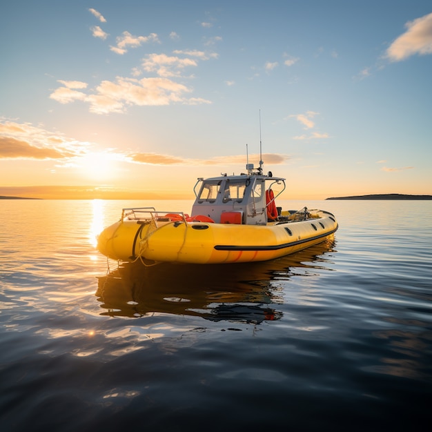
{"type": "Polygon", "coordinates": [[[86,153],[77,161],[82,176],[92,181],[110,180],[115,175],[116,161],[109,153],[86,153]]]}

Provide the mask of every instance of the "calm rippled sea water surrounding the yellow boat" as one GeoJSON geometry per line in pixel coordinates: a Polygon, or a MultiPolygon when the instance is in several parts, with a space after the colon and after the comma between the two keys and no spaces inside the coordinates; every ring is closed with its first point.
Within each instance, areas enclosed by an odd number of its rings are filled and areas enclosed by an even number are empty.
{"type": "Polygon", "coordinates": [[[154,204],[0,202],[1,431],[429,422],[432,202],[286,202],[340,229],[272,262],[107,263],[95,235],[154,204]]]}

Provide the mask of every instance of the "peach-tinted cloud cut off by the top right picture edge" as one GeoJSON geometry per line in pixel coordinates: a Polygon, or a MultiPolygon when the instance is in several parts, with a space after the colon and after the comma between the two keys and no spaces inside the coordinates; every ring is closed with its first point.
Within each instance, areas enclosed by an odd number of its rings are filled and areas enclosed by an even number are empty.
{"type": "Polygon", "coordinates": [[[432,12],[405,24],[406,32],[397,37],[386,51],[391,61],[402,61],[412,55],[432,54],[432,12]]]}

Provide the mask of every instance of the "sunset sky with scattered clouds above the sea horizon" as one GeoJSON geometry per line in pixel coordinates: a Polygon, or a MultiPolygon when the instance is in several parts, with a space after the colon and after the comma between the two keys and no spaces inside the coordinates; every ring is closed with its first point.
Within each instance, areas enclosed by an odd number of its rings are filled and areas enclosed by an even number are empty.
{"type": "Polygon", "coordinates": [[[0,195],[432,195],[430,0],[0,0],[0,195]]]}

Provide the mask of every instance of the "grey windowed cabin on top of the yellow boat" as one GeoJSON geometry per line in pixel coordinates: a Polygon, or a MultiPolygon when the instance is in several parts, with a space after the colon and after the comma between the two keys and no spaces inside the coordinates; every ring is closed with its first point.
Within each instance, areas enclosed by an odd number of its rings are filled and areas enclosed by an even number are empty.
{"type": "Polygon", "coordinates": [[[246,168],[247,174],[199,178],[194,192],[199,184],[201,187],[195,192],[191,216],[206,215],[220,224],[266,225],[277,220],[272,186],[283,184],[277,197],[285,189],[285,179],[246,168]]]}

